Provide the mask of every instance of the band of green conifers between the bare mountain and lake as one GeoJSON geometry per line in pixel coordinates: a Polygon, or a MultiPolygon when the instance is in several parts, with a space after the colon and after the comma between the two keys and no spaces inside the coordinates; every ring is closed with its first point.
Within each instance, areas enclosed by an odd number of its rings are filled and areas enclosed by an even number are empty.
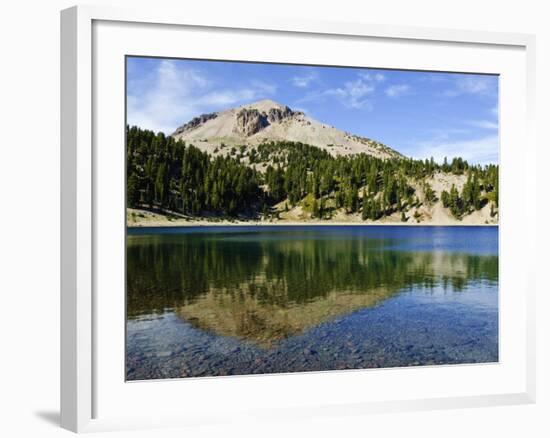
{"type": "MultiPolygon", "coordinates": [[[[333,157],[302,143],[269,142],[232,147],[212,156],[162,133],[127,127],[127,205],[191,216],[261,217],[307,206],[312,217],[329,219],[335,210],[376,220],[404,212],[437,196],[425,182],[437,172],[467,175],[462,190],[441,193],[457,217],[491,202],[498,207],[498,166],[470,165],[461,158],[382,160],[366,154],[333,157]],[[412,182],[421,183],[415,190],[412,182]],[[421,193],[417,193],[421,192],[421,193]]],[[[227,147],[220,145],[221,148],[227,147]]],[[[417,184],[418,186],[418,184],[417,184]]]]}

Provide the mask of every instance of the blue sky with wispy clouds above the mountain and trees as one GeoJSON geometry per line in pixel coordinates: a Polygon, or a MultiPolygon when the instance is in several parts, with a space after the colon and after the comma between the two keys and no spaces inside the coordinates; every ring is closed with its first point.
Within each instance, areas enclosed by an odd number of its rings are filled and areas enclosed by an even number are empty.
{"type": "Polygon", "coordinates": [[[127,59],[127,121],[173,132],[261,99],[378,140],[406,156],[498,162],[498,77],[279,64],[127,59]]]}

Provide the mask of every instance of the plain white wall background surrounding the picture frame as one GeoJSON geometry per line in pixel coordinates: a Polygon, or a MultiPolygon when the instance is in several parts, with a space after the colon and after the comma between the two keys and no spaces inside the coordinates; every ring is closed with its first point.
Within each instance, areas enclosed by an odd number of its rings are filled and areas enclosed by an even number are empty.
{"type": "MultiPolygon", "coordinates": [[[[149,5],[143,0],[97,4],[149,5]]],[[[538,402],[530,406],[315,418],[276,424],[118,432],[107,436],[550,436],[550,309],[545,287],[550,243],[547,133],[550,14],[544,1],[156,0],[158,7],[364,21],[537,36],[539,178],[538,402]]],[[[0,434],[68,436],[59,411],[59,10],[66,0],[4,2],[0,14],[0,434]]],[[[522,145],[517,145],[522,147],[522,145]]],[[[521,230],[518,230],[521,233],[521,230]]]]}

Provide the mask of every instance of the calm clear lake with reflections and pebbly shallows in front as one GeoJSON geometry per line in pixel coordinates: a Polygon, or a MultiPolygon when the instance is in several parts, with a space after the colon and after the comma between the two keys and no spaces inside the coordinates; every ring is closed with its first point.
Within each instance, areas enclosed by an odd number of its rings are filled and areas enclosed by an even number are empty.
{"type": "Polygon", "coordinates": [[[498,227],[129,228],[128,380],[498,361],[498,227]]]}

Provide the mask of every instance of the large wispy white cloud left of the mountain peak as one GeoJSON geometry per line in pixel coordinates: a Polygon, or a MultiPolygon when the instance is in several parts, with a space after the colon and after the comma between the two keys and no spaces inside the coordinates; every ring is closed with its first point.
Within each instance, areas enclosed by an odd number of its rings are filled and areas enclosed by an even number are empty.
{"type": "Polygon", "coordinates": [[[200,71],[162,60],[147,77],[128,82],[127,123],[171,134],[178,126],[208,111],[265,98],[275,87],[251,80],[239,89],[217,89],[200,71]]]}

